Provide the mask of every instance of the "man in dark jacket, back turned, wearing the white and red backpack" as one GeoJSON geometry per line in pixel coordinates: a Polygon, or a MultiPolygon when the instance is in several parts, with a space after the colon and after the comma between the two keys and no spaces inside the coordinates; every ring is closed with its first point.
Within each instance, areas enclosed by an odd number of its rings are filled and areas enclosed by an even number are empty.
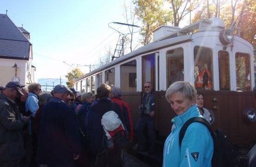
{"type": "Polygon", "coordinates": [[[92,167],[123,166],[123,153],[121,148],[115,147],[111,150],[106,150],[104,148],[103,136],[105,136],[105,133],[101,125],[102,116],[106,112],[113,110],[119,116],[121,122],[124,122],[121,108],[118,104],[112,103],[109,99],[110,92],[110,86],[102,83],[97,88],[97,96],[99,101],[91,105],[86,116],[85,125],[89,135],[89,152],[92,158],[92,167]]]}

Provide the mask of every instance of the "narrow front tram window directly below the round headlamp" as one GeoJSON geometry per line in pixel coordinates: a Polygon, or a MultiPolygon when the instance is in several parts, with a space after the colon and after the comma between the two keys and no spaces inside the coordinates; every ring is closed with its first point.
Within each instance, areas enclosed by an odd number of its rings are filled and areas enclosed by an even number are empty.
{"type": "Polygon", "coordinates": [[[229,90],[230,81],[229,81],[229,52],[219,51],[219,82],[220,90],[229,90]]]}

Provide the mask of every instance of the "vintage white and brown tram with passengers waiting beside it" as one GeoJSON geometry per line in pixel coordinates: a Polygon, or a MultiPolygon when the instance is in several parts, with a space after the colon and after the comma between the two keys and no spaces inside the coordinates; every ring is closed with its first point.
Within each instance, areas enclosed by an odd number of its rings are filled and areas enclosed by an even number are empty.
{"type": "Polygon", "coordinates": [[[239,29],[225,29],[220,18],[202,19],[184,28],[161,26],[154,31],[152,43],[85,74],[73,86],[94,94],[101,83],[120,87],[136,125],[143,85],[150,81],[155,91],[156,133],[165,137],[175,116],[165,100],[175,69],[204,95],[214,129],[222,128],[235,144],[256,141],[253,54],[253,46],[240,37],[239,29]],[[199,63],[209,71],[206,84],[198,84],[199,63]]]}

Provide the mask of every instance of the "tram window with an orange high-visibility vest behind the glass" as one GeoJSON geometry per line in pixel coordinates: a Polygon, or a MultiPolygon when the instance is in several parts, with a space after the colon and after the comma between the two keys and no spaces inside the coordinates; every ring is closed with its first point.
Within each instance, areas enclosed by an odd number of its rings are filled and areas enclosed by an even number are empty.
{"type": "Polygon", "coordinates": [[[195,88],[211,90],[212,82],[212,50],[206,47],[194,47],[194,64],[195,64],[195,88]]]}

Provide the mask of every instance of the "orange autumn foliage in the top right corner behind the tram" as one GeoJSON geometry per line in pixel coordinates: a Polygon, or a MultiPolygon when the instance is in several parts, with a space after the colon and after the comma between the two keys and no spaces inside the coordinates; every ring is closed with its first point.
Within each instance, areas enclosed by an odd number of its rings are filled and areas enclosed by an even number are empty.
{"type": "MultiPolygon", "coordinates": [[[[195,16],[192,22],[208,18],[206,6],[207,4],[203,3],[198,10],[194,11],[195,16]]],[[[223,19],[226,28],[232,26],[232,23],[233,26],[241,28],[242,37],[256,47],[255,0],[213,0],[209,2],[209,12],[210,16],[216,16],[217,13],[223,19]],[[216,5],[217,3],[218,5],[216,5]]]]}

